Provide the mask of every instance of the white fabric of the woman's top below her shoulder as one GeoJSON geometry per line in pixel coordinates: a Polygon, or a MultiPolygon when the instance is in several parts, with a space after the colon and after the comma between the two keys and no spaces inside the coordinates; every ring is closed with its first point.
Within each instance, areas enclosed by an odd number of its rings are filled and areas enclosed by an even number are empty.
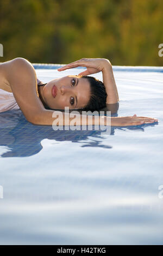
{"type": "Polygon", "coordinates": [[[13,93],[0,89],[0,113],[19,108],[13,93]]]}

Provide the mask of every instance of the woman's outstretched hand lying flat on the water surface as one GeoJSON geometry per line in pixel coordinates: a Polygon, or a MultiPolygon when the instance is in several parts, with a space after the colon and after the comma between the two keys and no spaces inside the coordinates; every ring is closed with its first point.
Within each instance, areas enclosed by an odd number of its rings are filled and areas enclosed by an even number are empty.
{"type": "Polygon", "coordinates": [[[158,122],[158,119],[151,117],[137,117],[136,114],[134,114],[133,117],[111,117],[112,126],[152,124],[154,122],[158,122]]]}

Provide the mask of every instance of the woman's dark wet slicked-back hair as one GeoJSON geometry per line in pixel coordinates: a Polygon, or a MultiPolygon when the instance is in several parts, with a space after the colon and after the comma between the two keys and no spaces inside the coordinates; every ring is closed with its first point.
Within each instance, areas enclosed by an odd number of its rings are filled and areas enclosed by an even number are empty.
{"type": "MultiPolygon", "coordinates": [[[[97,78],[93,76],[78,76],[78,77],[85,78],[90,82],[91,96],[86,106],[79,109],[70,109],[70,112],[74,110],[93,112],[93,111],[98,111],[101,108],[104,108],[106,106],[106,97],[107,97],[104,83],[99,81],[97,78]]],[[[46,105],[44,106],[46,109],[52,109],[46,105]]],[[[52,109],[52,110],[64,111],[64,109],[52,109]]]]}

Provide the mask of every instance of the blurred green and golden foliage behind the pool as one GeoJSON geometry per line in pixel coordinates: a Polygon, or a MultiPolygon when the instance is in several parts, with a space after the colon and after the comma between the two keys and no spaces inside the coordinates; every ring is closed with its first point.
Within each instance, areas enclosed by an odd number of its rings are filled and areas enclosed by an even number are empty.
{"type": "Polygon", "coordinates": [[[0,61],[162,66],[162,28],[162,0],[0,0],[0,61]]]}

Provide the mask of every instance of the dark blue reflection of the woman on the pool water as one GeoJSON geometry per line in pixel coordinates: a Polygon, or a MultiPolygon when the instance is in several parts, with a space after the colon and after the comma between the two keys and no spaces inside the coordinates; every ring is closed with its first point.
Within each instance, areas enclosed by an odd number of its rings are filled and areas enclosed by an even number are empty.
{"type": "MultiPolygon", "coordinates": [[[[112,116],[117,116],[114,114],[112,116]]],[[[147,125],[145,125],[147,126],[147,125]]],[[[142,130],[142,126],[128,126],[128,127],[111,127],[110,135],[115,134],[115,130],[142,130]]],[[[20,109],[14,111],[7,111],[0,114],[0,146],[7,147],[7,152],[3,153],[2,157],[13,156],[32,156],[42,149],[41,141],[43,139],[55,139],[55,141],[71,141],[79,142],[85,141],[85,145],[81,147],[101,147],[111,149],[110,145],[101,145],[103,138],[101,135],[103,131],[54,131],[52,126],[33,125],[29,123],[24,117],[20,109]],[[93,140],[87,141],[88,136],[93,140]],[[98,138],[98,139],[97,139],[98,138]]]]}

